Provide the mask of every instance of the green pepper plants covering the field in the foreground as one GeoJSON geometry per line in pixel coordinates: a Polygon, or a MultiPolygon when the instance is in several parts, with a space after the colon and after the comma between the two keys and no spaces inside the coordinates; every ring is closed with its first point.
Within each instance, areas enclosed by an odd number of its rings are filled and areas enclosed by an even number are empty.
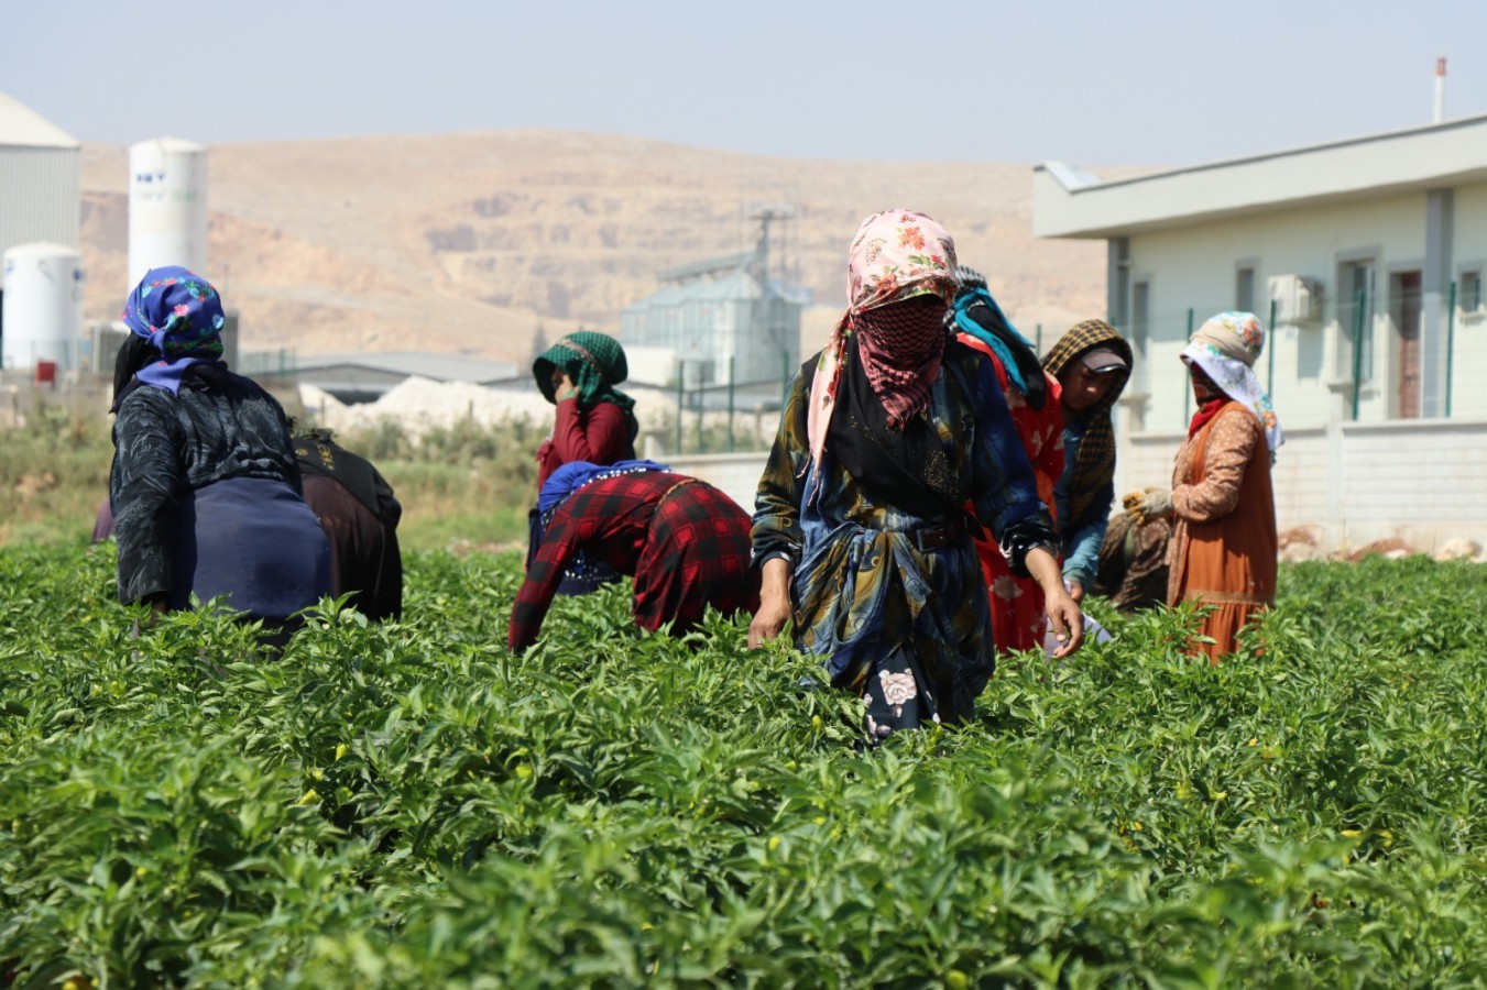
{"type": "Polygon", "coordinates": [[[1096,609],[1114,642],[867,752],[742,618],[641,638],[613,589],[513,657],[517,580],[415,554],[406,623],[269,663],[210,615],[129,639],[109,550],[0,550],[9,978],[1487,981],[1487,568],[1285,568],[1216,669],[1096,609]]]}

